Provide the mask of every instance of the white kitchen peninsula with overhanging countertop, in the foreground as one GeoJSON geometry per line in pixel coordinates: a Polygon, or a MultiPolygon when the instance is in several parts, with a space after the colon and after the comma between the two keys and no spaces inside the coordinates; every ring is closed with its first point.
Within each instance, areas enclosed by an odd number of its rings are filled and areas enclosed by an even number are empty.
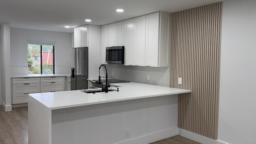
{"type": "Polygon", "coordinates": [[[148,144],[178,134],[178,94],[190,90],[115,83],[119,92],[29,94],[30,144],[148,144]]]}

